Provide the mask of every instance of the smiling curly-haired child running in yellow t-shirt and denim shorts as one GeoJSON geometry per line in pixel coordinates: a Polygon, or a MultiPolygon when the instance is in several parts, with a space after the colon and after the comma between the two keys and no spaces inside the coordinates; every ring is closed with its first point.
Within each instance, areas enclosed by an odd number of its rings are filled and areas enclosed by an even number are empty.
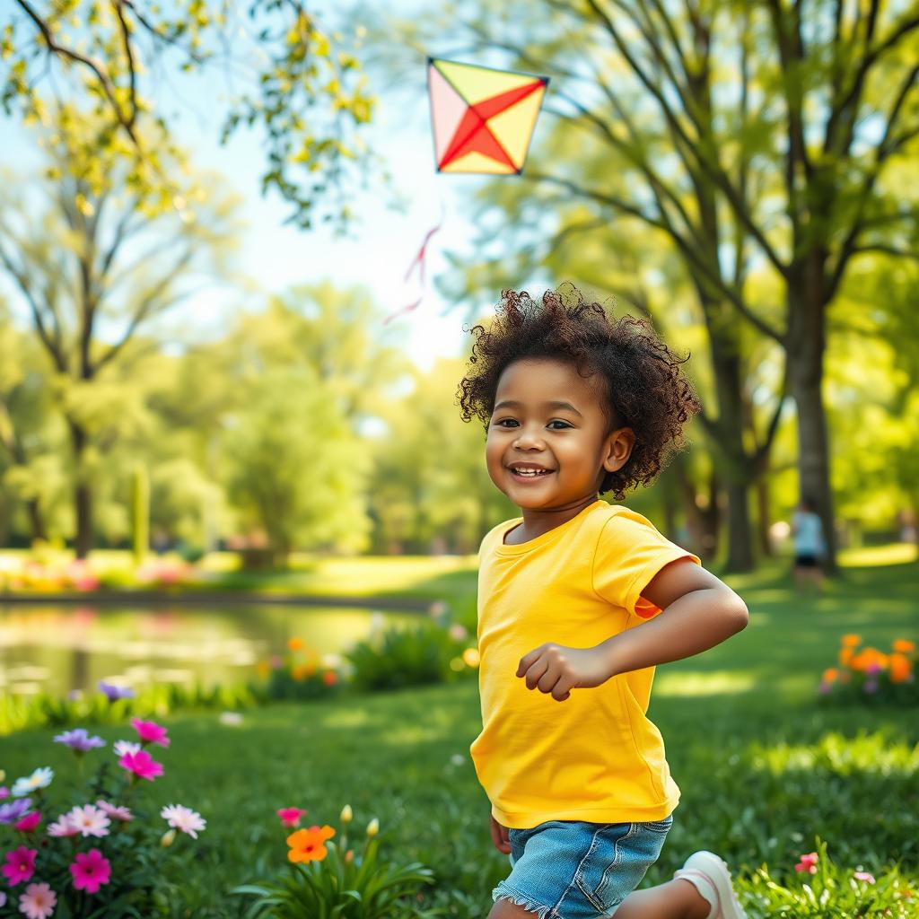
{"type": "Polygon", "coordinates": [[[747,623],[743,600],[643,516],[609,505],[651,482],[698,412],[646,323],[610,322],[576,289],[541,306],[505,290],[475,326],[463,419],[523,516],[482,540],[482,733],[471,745],[510,875],[489,919],[742,919],[719,857],[636,891],[679,789],[646,717],[654,665],[747,623]]]}

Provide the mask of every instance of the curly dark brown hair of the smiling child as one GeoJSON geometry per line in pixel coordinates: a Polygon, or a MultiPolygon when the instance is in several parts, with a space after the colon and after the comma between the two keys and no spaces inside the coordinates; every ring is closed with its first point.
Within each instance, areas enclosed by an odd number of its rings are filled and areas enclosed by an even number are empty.
{"type": "Polygon", "coordinates": [[[463,421],[480,418],[488,430],[498,380],[517,360],[550,358],[573,365],[582,377],[598,376],[598,394],[609,431],[630,427],[635,445],[627,462],[607,472],[600,494],[621,499],[630,488],[650,484],[684,446],[683,427],[699,403],[675,354],[650,323],[633,316],[610,319],[571,284],[547,290],[541,304],[525,290],[502,290],[488,328],[475,325],[466,375],[457,401],[463,421]]]}

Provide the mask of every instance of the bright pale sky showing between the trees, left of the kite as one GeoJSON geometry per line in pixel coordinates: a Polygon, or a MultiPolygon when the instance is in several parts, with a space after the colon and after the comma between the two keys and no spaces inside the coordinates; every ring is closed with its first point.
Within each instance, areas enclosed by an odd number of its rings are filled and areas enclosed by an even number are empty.
{"type": "MultiPolygon", "coordinates": [[[[219,74],[211,74],[194,81],[176,78],[165,97],[170,99],[170,110],[179,115],[175,121],[177,140],[193,151],[194,165],[220,172],[229,187],[244,199],[241,214],[246,228],[236,267],[255,278],[267,293],[323,280],[341,287],[364,285],[373,291],[388,315],[418,297],[416,276],[414,283],[406,284],[404,275],[425,233],[440,221],[443,208],[446,218],[442,229],[428,247],[424,300],[414,312],[390,324],[393,337],[399,336],[397,344],[421,369],[429,369],[437,357],[462,354],[470,340],[468,333],[462,331],[465,310],[445,301],[432,278],[447,267],[448,250],[468,251],[473,228],[463,201],[483,180],[477,176],[438,175],[435,171],[425,60],[419,57],[416,73],[397,88],[381,86],[376,115],[367,134],[373,149],[384,158],[393,186],[407,207],[404,212],[392,210],[379,188],[360,192],[353,200],[359,220],[351,238],[346,239],[336,238],[323,228],[302,231],[284,224],[289,209],[277,193],[263,198],[259,191],[265,159],[258,134],[241,130],[227,145],[220,145],[224,95],[219,74]]],[[[0,131],[0,168],[21,174],[40,165],[34,136],[22,129],[15,118],[0,116],[0,131]]],[[[391,196],[385,197],[388,200],[391,196]]],[[[10,292],[8,286],[3,289],[10,292]]],[[[238,290],[215,286],[196,298],[189,315],[202,327],[219,329],[241,305],[260,305],[241,301],[238,290]]],[[[485,304],[481,312],[488,309],[490,306],[485,304]]]]}

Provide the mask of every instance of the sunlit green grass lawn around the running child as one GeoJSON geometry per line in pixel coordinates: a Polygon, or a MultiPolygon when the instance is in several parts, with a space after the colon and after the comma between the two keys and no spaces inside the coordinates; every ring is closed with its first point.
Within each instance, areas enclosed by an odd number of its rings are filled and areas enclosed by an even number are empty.
{"type": "MultiPolygon", "coordinates": [[[[727,858],[742,882],[768,863],[774,877],[800,883],[793,865],[816,835],[840,865],[880,878],[900,859],[919,880],[915,710],[825,709],[813,692],[845,632],[881,648],[919,638],[919,564],[859,561],[817,600],[792,596],[777,567],[731,579],[750,607],[749,628],[659,668],[651,715],[683,800],[646,883],[669,879],[698,847],[727,858]]],[[[346,803],[358,827],[380,819],[391,855],[435,869],[431,902],[463,919],[487,914],[507,863],[491,844],[468,757],[479,727],[474,683],[276,705],[241,727],[215,715],[167,723],[173,743],[156,757],[166,775],[150,791],[209,822],[197,857],[176,865],[189,902],[176,914],[241,915],[226,891],[279,866],[286,852],[274,811],[297,805],[309,822],[336,823],[346,803]]],[[[109,741],[132,733],[98,732],[109,741]]],[[[54,766],[65,784],[71,754],[51,743],[53,733],[4,738],[0,767],[16,777],[54,766]]],[[[762,914],[754,903],[750,913],[762,914]]]]}

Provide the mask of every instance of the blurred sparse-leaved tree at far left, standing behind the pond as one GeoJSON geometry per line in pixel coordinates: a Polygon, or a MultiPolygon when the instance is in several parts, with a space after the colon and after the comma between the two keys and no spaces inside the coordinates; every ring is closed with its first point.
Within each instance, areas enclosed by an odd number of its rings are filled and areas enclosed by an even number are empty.
{"type": "MultiPolygon", "coordinates": [[[[130,397],[117,385],[130,343],[196,291],[199,272],[233,238],[233,202],[186,180],[185,196],[166,208],[165,189],[131,181],[115,156],[92,146],[96,126],[63,107],[51,138],[51,207],[9,191],[0,214],[0,266],[15,282],[51,367],[74,461],[74,548],[93,539],[94,441],[107,411],[130,397]]],[[[177,172],[180,164],[174,168],[177,172]]],[[[116,415],[117,421],[117,415],[116,415]]]]}

